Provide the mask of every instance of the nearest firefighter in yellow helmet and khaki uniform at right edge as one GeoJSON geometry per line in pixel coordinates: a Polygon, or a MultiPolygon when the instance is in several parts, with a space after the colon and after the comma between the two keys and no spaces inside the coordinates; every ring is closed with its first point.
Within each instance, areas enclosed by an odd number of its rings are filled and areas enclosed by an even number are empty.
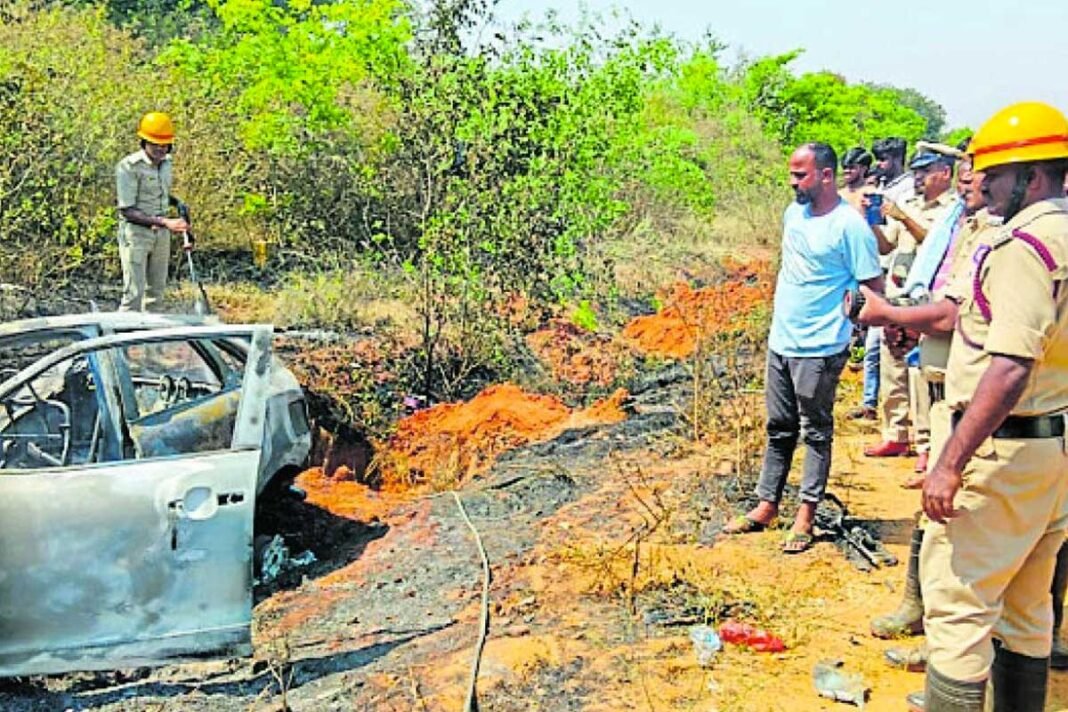
{"type": "Polygon", "coordinates": [[[911,709],[1045,708],[1050,583],[1068,531],[1068,120],[1045,104],[992,116],[969,147],[1003,225],[947,299],[860,318],[953,332],[952,433],[927,474],[921,548],[929,649],[911,709]]]}

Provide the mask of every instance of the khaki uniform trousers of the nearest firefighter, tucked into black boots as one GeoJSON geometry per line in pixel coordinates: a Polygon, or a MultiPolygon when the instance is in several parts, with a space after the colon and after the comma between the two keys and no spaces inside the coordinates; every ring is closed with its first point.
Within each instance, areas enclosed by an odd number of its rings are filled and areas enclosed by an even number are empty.
{"type": "MultiPolygon", "coordinates": [[[[931,458],[948,438],[931,409],[931,458]]],[[[946,524],[924,518],[920,557],[929,663],[954,680],[987,679],[992,638],[1031,658],[1050,654],[1050,583],[1068,529],[1064,438],[988,439],[969,461],[946,524]]]]}

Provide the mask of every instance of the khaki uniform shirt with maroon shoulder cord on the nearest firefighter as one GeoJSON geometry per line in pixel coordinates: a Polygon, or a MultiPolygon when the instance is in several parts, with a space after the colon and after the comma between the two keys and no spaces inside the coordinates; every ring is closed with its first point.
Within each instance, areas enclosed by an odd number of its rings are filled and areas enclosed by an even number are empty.
{"type": "MultiPolygon", "coordinates": [[[[990,252],[978,275],[990,303],[990,322],[975,303],[974,289],[962,284],[970,280],[959,280],[947,290],[961,301],[949,348],[946,401],[954,410],[967,408],[991,357],[999,354],[1035,362],[1014,415],[1068,410],[1068,288],[1064,284],[1068,279],[1068,199],[1031,205],[990,235],[990,252]],[[1053,272],[1031,246],[1011,236],[1016,228],[1046,246],[1056,263],[1053,272]]],[[[977,258],[974,250],[972,254],[977,258]]]]}

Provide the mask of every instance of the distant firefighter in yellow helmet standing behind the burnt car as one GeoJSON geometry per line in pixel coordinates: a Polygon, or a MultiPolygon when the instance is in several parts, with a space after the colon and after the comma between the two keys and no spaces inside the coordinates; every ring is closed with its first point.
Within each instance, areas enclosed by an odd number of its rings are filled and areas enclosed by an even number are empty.
{"type": "Polygon", "coordinates": [[[174,124],[164,113],[141,117],[137,135],[141,149],[119,161],[119,256],[123,266],[120,311],[150,308],[163,297],[171,255],[171,234],[189,225],[168,217],[176,199],[171,195],[174,176],[171,147],[174,124]]]}

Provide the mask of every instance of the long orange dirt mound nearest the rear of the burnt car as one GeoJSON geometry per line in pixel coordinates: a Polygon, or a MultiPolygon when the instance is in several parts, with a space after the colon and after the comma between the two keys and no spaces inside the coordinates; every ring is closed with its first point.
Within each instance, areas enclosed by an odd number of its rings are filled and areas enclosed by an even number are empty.
{"type": "Polygon", "coordinates": [[[625,391],[587,409],[571,410],[554,396],[517,385],[493,385],[464,404],[442,404],[397,424],[380,459],[387,487],[447,485],[489,468],[499,455],[551,440],[569,428],[618,423],[625,391]]]}

